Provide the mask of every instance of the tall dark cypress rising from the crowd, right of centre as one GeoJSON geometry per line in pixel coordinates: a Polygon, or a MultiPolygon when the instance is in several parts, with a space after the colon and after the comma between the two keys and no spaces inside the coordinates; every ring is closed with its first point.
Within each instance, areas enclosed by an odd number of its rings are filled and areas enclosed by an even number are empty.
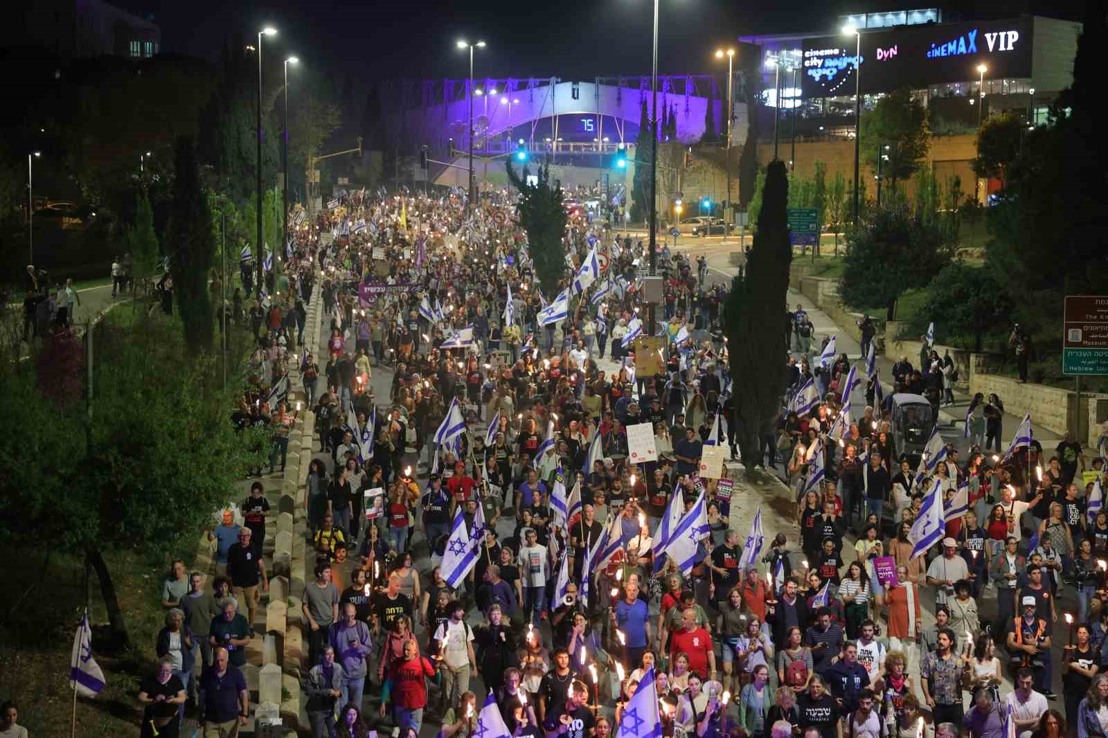
{"type": "Polygon", "coordinates": [[[772,162],[766,172],[758,230],[745,276],[731,280],[724,307],[728,366],[736,378],[732,420],[739,429],[739,449],[748,471],[761,459],[762,433],[772,427],[786,389],[782,356],[772,347],[784,344],[781,319],[792,262],[786,217],[788,201],[784,164],[772,162]]]}

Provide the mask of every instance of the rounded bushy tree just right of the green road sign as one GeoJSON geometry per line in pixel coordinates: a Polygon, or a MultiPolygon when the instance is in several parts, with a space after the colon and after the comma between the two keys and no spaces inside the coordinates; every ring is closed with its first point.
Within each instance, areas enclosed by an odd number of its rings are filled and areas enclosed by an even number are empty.
{"type": "Polygon", "coordinates": [[[933,218],[912,214],[902,202],[870,213],[847,236],[847,256],[839,291],[848,305],[886,308],[906,289],[926,286],[950,264],[953,244],[933,218]]]}

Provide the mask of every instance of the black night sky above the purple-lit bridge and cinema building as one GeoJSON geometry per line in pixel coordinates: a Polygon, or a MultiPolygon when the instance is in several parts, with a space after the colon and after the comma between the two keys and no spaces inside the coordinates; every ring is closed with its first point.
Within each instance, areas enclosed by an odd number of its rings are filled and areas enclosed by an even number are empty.
{"type": "MultiPolygon", "coordinates": [[[[462,78],[466,54],[460,38],[484,40],[475,74],[481,76],[635,76],[650,72],[650,0],[462,0],[439,2],[114,0],[137,14],[153,13],[162,29],[162,50],[215,59],[233,32],[256,33],[273,24],[266,39],[278,54],[297,54],[306,64],[356,79],[462,78]]],[[[909,3],[911,4],[911,3],[909,3]]],[[[829,31],[840,13],[907,8],[884,0],[661,0],[659,73],[716,71],[711,54],[739,35],[829,31]]],[[[919,2],[911,7],[931,7],[919,2]]],[[[1080,0],[963,0],[944,10],[945,20],[1010,17],[1039,12],[1080,18],[1080,0]]]]}

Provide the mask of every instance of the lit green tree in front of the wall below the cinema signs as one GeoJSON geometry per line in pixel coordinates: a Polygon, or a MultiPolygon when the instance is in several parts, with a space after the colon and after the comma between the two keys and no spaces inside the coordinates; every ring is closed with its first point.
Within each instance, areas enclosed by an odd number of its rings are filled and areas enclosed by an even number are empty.
{"type": "Polygon", "coordinates": [[[881,98],[873,110],[862,113],[861,130],[862,151],[889,146],[889,161],[881,174],[890,191],[895,191],[901,180],[912,176],[931,148],[927,111],[912,99],[906,88],[881,98]]]}

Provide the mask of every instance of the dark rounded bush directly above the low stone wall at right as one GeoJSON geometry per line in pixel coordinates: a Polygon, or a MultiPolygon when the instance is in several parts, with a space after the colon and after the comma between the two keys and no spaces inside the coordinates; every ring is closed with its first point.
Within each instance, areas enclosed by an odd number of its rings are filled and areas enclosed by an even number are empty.
{"type": "Polygon", "coordinates": [[[972,337],[964,348],[981,351],[991,329],[1007,326],[1013,307],[992,269],[952,262],[927,286],[927,301],[916,314],[911,335],[921,335],[934,320],[946,336],[972,337]]]}

